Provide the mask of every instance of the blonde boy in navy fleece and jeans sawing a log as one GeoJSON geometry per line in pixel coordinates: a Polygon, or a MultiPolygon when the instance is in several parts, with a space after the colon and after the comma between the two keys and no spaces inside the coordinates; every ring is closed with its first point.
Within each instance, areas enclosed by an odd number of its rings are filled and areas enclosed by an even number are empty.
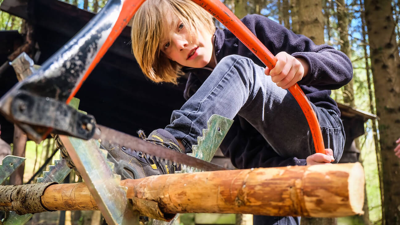
{"type": "MultiPolygon", "coordinates": [[[[260,15],[242,22],[276,55],[274,69],[261,61],[228,30],[216,30],[212,16],[190,0],[147,0],[135,14],[132,49],[144,74],[154,82],[188,81],[180,110],[171,124],[144,139],[191,152],[212,114],[235,122],[221,150],[237,168],[338,162],[344,146],[340,111],[329,97],[352,79],[352,65],[342,52],[315,45],[260,15]],[[316,111],[326,154],[315,154],[312,136],[298,103],[286,90],[300,84],[316,111]]],[[[137,158],[120,149],[119,159],[137,158]]],[[[118,159],[117,159],[118,160],[118,159]]],[[[151,159],[150,159],[151,160],[151,159]]],[[[140,164],[149,168],[152,163],[140,164]]],[[[174,165],[158,163],[160,174],[174,165]]],[[[157,174],[157,172],[154,172],[157,174]]],[[[146,174],[148,176],[152,174],[146,174]]],[[[299,224],[298,217],[254,217],[255,224],[299,224]]]]}

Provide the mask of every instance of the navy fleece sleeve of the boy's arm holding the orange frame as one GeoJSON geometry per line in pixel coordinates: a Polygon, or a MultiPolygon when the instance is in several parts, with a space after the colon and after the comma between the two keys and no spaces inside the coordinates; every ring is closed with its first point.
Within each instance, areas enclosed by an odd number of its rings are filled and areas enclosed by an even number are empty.
{"type": "MultiPolygon", "coordinates": [[[[316,45],[304,35],[294,34],[284,26],[261,15],[248,15],[242,22],[256,35],[273,55],[281,51],[294,57],[304,57],[310,69],[308,75],[298,82],[318,89],[338,89],[347,84],[353,76],[353,68],[346,54],[330,45],[316,45]]],[[[256,58],[246,46],[240,43],[239,53],[256,58]],[[246,55],[248,51],[251,55],[246,55]]],[[[242,54],[240,54],[242,55],[242,54]]],[[[255,61],[260,62],[259,59],[255,61]]],[[[257,62],[256,62],[257,63],[257,62]]]]}

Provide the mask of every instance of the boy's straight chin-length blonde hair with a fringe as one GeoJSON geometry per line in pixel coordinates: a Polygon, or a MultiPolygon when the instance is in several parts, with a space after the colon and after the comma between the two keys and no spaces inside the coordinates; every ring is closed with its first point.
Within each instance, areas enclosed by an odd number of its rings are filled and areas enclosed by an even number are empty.
{"type": "Polygon", "coordinates": [[[160,50],[161,38],[168,32],[164,18],[176,16],[195,37],[198,28],[214,34],[212,16],[191,0],[146,0],[132,22],[132,50],[143,73],[152,81],[176,84],[181,65],[160,50]]]}

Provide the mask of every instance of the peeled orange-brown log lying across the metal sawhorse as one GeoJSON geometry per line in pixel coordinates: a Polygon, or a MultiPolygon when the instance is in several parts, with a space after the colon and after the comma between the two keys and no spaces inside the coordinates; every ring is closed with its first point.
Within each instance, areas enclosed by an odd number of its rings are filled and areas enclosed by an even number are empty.
{"type": "MultiPolygon", "coordinates": [[[[167,174],[123,180],[121,185],[141,215],[167,221],[175,213],[363,213],[364,171],[359,163],[167,174]]],[[[84,183],[49,186],[40,199],[47,210],[98,209],[84,183]]]]}

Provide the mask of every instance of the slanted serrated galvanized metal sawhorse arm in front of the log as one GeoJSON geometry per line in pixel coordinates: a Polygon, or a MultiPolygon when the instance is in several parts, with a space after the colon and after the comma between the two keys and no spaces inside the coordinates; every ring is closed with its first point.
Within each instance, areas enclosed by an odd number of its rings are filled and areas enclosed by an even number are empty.
{"type": "Polygon", "coordinates": [[[86,141],[63,135],[60,135],[60,140],[106,222],[131,224],[139,221],[139,214],[126,198],[128,188],[120,185],[121,176],[112,172],[114,164],[107,161],[106,152],[99,149],[100,144],[93,139],[86,141]]]}

